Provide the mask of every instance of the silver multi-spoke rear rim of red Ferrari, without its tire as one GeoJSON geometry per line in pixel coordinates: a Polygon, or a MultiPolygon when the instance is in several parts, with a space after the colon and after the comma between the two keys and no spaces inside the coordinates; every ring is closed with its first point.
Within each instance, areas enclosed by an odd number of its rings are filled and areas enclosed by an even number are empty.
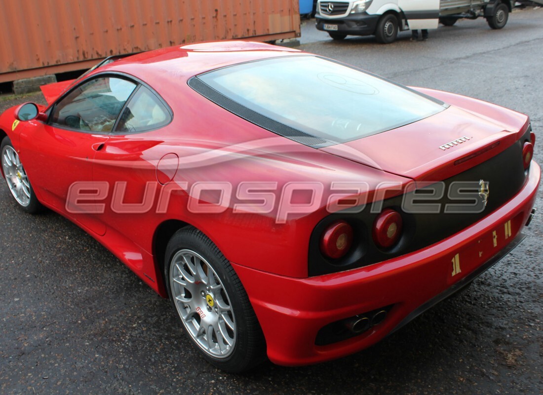
{"type": "Polygon", "coordinates": [[[209,356],[227,358],[236,344],[236,320],[222,281],[190,249],[172,258],[169,282],[175,307],[188,333],[209,356]]]}

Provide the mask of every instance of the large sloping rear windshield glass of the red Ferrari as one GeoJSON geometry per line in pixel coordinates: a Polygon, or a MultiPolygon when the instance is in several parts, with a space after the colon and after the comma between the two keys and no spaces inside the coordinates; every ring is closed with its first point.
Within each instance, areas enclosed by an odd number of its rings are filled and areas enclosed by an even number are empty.
{"type": "Polygon", "coordinates": [[[329,143],[361,139],[446,108],[404,86],[313,56],[248,62],[198,78],[258,114],[329,143]]]}

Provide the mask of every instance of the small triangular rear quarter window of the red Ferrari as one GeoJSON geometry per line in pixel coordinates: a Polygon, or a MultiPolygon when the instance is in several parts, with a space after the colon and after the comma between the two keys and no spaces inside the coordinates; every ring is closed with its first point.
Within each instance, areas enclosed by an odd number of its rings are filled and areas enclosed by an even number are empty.
{"type": "Polygon", "coordinates": [[[147,87],[140,86],[123,110],[116,132],[134,132],[160,128],[171,121],[160,99],[147,87]]]}

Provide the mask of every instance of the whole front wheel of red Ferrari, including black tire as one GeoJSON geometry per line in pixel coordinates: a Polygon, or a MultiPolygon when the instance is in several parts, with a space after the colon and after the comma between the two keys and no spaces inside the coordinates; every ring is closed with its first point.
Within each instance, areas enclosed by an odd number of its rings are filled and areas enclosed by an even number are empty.
{"type": "Polygon", "coordinates": [[[24,171],[19,154],[11,145],[11,140],[8,136],[2,140],[0,154],[2,155],[2,171],[5,181],[8,184],[11,195],[13,195],[20,208],[30,214],[42,211],[43,206],[36,198],[27,173],[24,171]]]}

